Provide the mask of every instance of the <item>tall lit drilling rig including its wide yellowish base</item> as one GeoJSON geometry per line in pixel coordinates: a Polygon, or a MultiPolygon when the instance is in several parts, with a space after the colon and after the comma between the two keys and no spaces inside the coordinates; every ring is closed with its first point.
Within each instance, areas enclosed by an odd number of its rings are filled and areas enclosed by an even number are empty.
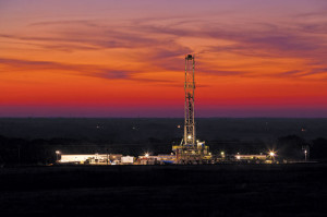
{"type": "Polygon", "coordinates": [[[184,105],[184,137],[179,146],[172,146],[177,164],[206,164],[210,161],[211,154],[205,142],[196,140],[194,121],[194,56],[185,56],[185,105],[184,105]]]}

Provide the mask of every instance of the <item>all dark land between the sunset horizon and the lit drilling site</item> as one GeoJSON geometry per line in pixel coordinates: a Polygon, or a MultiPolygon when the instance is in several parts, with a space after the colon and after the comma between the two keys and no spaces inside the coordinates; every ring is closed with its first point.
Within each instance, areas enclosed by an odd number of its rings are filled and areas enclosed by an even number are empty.
{"type": "MultiPolygon", "coordinates": [[[[198,118],[196,137],[213,154],[261,154],[276,149],[280,156],[327,156],[327,119],[310,118],[198,118]]],[[[145,152],[169,154],[183,136],[183,118],[1,118],[0,162],[53,162],[64,154],[116,153],[138,156],[145,152]]]]}

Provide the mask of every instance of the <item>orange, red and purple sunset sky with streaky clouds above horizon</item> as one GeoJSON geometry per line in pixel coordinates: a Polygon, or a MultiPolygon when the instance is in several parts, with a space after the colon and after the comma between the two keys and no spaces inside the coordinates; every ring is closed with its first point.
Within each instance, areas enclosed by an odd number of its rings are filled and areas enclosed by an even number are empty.
{"type": "Polygon", "coordinates": [[[0,0],[0,117],[327,118],[326,0],[0,0]]]}

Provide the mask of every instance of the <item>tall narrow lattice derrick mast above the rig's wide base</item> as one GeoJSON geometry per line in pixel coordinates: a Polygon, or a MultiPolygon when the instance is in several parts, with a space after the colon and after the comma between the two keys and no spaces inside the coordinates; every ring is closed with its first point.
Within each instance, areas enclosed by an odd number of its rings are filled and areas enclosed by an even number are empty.
{"type": "Polygon", "coordinates": [[[187,55],[185,57],[185,122],[184,122],[184,146],[192,147],[196,146],[195,137],[195,122],[194,122],[194,56],[187,55]]]}

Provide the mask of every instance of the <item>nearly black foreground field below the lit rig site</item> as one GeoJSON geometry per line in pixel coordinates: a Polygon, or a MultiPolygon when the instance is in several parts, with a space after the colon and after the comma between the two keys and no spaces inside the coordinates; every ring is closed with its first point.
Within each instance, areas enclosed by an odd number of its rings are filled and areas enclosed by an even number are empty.
{"type": "Polygon", "coordinates": [[[0,216],[325,216],[326,172],[326,164],[1,168],[0,216]]]}

